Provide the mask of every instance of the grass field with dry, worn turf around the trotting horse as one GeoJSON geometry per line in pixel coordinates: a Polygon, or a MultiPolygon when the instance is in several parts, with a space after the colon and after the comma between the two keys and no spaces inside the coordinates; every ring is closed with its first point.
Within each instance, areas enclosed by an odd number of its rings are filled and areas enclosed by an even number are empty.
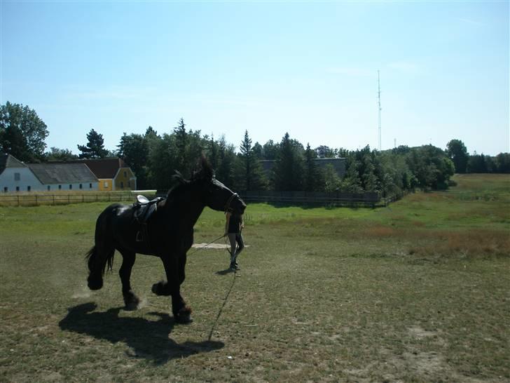
{"type": "MultiPolygon", "coordinates": [[[[139,255],[86,288],[107,203],[0,208],[1,382],[510,382],[510,177],[457,175],[389,208],[249,205],[237,274],[188,257],[190,325],[139,255]],[[218,318],[219,316],[219,318],[218,318]]],[[[195,243],[221,235],[205,210],[195,243]]]]}

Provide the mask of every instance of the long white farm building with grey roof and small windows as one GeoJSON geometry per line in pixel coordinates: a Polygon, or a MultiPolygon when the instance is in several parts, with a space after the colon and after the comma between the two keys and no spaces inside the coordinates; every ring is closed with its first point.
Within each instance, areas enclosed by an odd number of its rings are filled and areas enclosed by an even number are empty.
{"type": "Polygon", "coordinates": [[[0,191],[97,191],[99,180],[84,163],[22,163],[0,154],[0,191]]]}

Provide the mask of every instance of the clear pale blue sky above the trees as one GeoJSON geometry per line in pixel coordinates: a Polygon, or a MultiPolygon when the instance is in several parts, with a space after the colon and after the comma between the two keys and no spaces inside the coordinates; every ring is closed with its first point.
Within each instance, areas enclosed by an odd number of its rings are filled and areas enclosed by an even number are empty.
{"type": "Polygon", "coordinates": [[[5,1],[0,102],[49,147],[153,126],[382,149],[510,151],[508,1],[5,1]]]}

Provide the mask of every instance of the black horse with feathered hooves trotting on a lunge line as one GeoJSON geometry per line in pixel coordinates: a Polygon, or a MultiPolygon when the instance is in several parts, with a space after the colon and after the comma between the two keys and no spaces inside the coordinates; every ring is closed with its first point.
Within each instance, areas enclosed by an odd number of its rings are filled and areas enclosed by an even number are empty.
{"type": "Polygon", "coordinates": [[[126,309],[137,309],[139,299],[130,285],[131,269],[136,254],[160,257],[165,267],[167,282],[160,281],[152,286],[156,295],[172,296],[172,313],[179,323],[191,321],[191,308],[181,297],[180,286],[184,282],[186,252],[193,245],[193,226],[205,206],[214,210],[231,210],[243,213],[246,204],[237,194],[214,178],[214,172],[202,157],[199,170],[190,180],[177,173],[177,186],[171,189],[167,198],[159,201],[157,210],[146,222],[146,238],[140,241],[137,235],[140,224],[135,219],[134,206],[113,203],[97,218],[95,246],[87,254],[88,287],[99,290],[108,264],[113,264],[115,250],[123,256],[118,274],[122,281],[122,293],[126,309]]]}

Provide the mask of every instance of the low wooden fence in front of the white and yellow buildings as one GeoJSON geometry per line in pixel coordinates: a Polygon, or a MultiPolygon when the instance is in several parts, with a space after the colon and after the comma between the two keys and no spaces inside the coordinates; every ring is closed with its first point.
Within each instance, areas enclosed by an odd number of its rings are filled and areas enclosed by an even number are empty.
{"type": "Polygon", "coordinates": [[[83,193],[83,194],[4,194],[0,195],[0,206],[69,205],[85,202],[135,201],[127,193],[83,193]]]}

